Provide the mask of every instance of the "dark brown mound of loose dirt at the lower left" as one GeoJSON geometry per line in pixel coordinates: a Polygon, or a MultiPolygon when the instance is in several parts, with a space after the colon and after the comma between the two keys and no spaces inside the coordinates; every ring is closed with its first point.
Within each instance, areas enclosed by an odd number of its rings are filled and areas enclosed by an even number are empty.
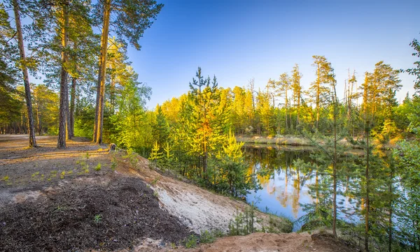
{"type": "Polygon", "coordinates": [[[178,243],[188,235],[134,177],[73,179],[0,209],[0,251],[109,251],[145,237],[178,243]]]}

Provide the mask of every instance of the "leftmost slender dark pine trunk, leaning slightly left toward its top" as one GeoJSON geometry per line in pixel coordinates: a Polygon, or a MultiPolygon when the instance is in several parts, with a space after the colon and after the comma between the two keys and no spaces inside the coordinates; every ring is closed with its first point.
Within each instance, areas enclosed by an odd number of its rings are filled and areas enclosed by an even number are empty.
{"type": "Polygon", "coordinates": [[[37,147],[35,139],[34,116],[32,114],[31,87],[29,87],[29,74],[26,67],[25,47],[23,45],[22,24],[20,24],[20,11],[18,0],[13,0],[13,10],[15,12],[16,31],[18,34],[18,47],[20,60],[22,61],[23,83],[25,85],[25,100],[28,112],[29,127],[29,147],[37,147]]]}

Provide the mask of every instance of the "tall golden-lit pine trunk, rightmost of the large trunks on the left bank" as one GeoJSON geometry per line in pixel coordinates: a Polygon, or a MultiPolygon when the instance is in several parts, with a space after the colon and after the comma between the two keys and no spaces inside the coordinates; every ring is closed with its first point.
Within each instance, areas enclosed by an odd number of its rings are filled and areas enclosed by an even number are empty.
{"type": "Polygon", "coordinates": [[[101,57],[99,59],[99,74],[97,83],[97,109],[94,124],[94,142],[102,143],[102,126],[104,125],[104,96],[106,74],[106,51],[108,49],[109,16],[111,15],[111,0],[104,2],[104,28],[101,36],[101,57]]]}

